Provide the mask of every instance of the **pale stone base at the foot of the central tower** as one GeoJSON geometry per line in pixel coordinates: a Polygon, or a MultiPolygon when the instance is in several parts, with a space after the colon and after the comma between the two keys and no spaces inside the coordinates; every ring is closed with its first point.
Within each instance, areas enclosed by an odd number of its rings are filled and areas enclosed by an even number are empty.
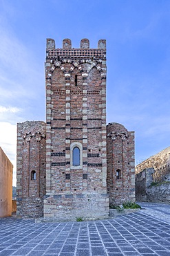
{"type": "Polygon", "coordinates": [[[45,219],[76,221],[77,218],[103,219],[108,216],[108,194],[56,194],[44,199],[45,219]]]}

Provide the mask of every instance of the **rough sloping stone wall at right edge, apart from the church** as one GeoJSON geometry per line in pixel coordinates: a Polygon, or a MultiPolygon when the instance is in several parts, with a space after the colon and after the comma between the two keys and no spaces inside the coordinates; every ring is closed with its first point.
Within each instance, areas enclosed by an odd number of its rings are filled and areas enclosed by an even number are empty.
{"type": "Polygon", "coordinates": [[[170,147],[136,166],[136,200],[170,202],[170,147]]]}

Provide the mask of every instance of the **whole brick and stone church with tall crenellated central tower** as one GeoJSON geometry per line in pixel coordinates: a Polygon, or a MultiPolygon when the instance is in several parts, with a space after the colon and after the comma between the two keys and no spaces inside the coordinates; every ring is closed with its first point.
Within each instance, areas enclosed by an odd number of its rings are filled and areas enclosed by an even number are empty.
{"type": "Polygon", "coordinates": [[[47,39],[46,122],[17,124],[17,216],[103,219],[135,201],[134,131],[106,125],[106,41],[47,39]]]}

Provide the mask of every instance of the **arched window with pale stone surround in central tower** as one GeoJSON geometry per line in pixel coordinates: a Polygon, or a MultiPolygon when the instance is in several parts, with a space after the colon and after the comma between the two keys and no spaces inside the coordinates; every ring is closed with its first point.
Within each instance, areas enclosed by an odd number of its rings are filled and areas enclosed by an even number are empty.
{"type": "Polygon", "coordinates": [[[83,168],[83,146],[81,143],[74,142],[70,145],[70,167],[72,169],[83,168]],[[76,154],[76,159],[74,158],[75,154],[76,154]],[[77,162],[78,157],[79,157],[79,161],[77,162]],[[76,162],[74,160],[76,160],[76,162]]]}

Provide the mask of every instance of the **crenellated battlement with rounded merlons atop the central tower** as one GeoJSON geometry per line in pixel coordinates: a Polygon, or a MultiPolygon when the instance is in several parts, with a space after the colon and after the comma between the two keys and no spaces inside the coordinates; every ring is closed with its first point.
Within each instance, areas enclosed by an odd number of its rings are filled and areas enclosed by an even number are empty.
{"type": "Polygon", "coordinates": [[[54,39],[47,39],[47,58],[54,59],[105,59],[106,58],[106,40],[98,41],[98,48],[89,48],[89,39],[81,39],[81,48],[72,48],[70,39],[63,39],[63,48],[55,48],[54,39]]]}

